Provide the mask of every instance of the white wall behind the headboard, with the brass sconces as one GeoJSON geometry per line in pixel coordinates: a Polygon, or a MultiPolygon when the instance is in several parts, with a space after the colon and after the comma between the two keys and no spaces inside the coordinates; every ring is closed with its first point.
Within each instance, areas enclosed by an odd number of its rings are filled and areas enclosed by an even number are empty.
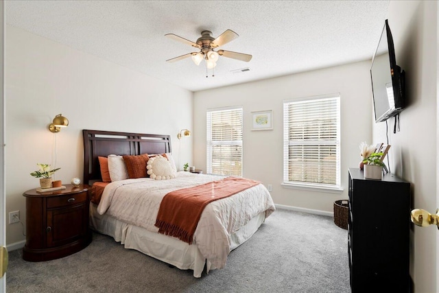
{"type": "MultiPolygon", "coordinates": [[[[176,138],[192,129],[191,91],[9,25],[5,43],[7,212],[25,222],[36,163],[56,163],[63,183],[82,178],[82,129],[171,134],[176,163],[180,153],[192,163],[191,137],[181,150],[176,138]],[[53,134],[47,126],[60,113],[70,124],[53,134]]],[[[6,226],[8,244],[25,239],[20,224],[6,226]]]]}

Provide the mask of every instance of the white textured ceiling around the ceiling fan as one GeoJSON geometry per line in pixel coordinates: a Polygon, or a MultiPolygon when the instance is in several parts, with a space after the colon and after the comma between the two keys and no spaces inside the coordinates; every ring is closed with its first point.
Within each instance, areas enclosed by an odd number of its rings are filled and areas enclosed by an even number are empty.
{"type": "MultiPolygon", "coordinates": [[[[6,23],[190,91],[273,78],[372,58],[389,1],[5,1],[6,23]],[[202,30],[239,38],[219,47],[215,77],[191,58],[202,30]],[[248,67],[250,71],[233,73],[248,67]]],[[[390,25],[392,25],[390,23],[390,25]]]]}

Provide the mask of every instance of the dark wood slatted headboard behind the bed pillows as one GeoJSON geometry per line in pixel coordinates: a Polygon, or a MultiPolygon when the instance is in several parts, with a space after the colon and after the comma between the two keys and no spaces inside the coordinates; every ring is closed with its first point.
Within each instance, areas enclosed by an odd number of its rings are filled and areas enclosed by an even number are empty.
{"type": "Polygon", "coordinates": [[[171,137],[162,134],[82,130],[84,136],[84,183],[101,180],[98,156],[171,152],[171,137]]]}

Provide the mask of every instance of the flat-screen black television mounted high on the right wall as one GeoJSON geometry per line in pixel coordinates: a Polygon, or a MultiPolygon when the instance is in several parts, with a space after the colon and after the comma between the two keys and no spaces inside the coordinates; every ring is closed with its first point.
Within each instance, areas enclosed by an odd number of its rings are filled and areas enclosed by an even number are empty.
{"type": "Polygon", "coordinates": [[[375,122],[398,115],[404,109],[405,71],[396,65],[392,32],[385,20],[370,67],[375,122]]]}

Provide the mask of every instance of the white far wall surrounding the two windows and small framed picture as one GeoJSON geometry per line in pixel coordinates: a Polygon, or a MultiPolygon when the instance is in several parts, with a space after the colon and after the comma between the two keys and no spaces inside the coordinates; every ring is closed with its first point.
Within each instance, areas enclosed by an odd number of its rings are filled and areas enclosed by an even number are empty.
{"type": "Polygon", "coordinates": [[[261,180],[265,185],[271,184],[276,204],[332,212],[335,200],[348,197],[348,167],[358,167],[361,161],[359,143],[371,143],[372,87],[369,69],[370,60],[196,92],[196,114],[193,117],[195,167],[206,170],[206,110],[241,105],[244,108],[243,176],[261,180]],[[283,100],[329,93],[340,93],[341,96],[343,194],[285,189],[281,187],[283,100]],[[273,130],[251,131],[251,112],[257,110],[273,110],[273,130]]]}

